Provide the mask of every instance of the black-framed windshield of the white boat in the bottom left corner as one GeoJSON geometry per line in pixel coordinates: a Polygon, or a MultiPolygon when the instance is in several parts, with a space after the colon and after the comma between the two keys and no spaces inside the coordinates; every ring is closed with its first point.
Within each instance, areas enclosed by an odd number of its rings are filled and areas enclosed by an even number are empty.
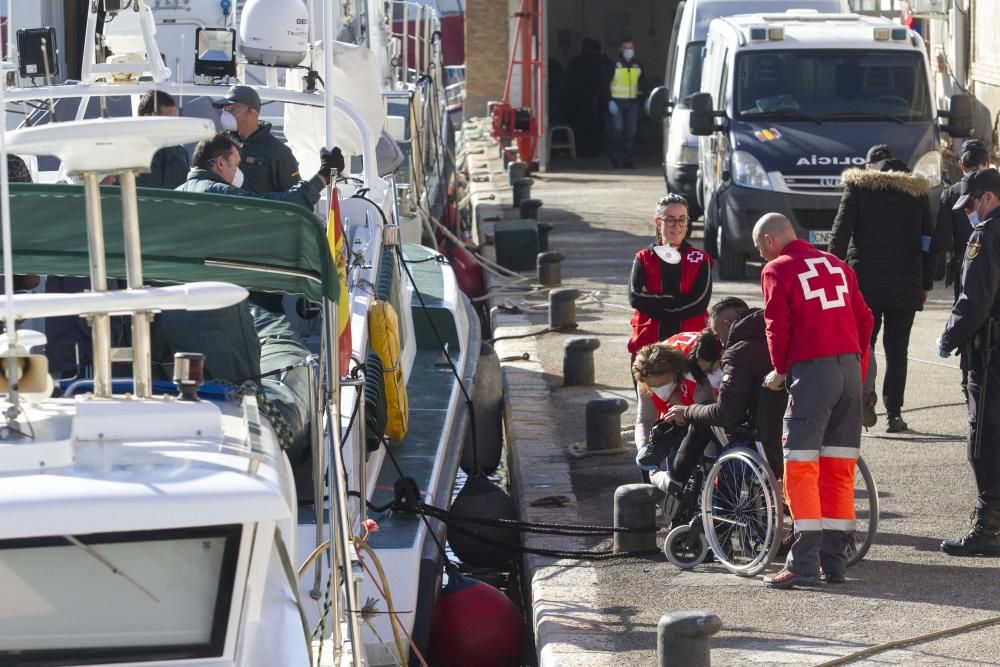
{"type": "Polygon", "coordinates": [[[0,541],[0,664],[221,656],[240,531],[0,541]]]}

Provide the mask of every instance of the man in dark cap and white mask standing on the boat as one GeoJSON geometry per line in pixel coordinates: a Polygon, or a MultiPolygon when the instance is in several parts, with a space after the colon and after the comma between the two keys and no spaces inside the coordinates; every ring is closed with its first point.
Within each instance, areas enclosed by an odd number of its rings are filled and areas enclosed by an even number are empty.
{"type": "Polygon", "coordinates": [[[286,192],[301,180],[292,150],[271,134],[271,123],[260,120],[260,96],[250,86],[233,86],[221,100],[222,129],[235,132],[243,143],[240,168],[243,187],[259,195],[286,192]]]}

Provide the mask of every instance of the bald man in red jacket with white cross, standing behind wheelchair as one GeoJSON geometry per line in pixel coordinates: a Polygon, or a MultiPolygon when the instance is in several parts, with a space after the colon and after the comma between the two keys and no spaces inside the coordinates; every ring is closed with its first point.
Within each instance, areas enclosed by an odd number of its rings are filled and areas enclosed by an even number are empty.
{"type": "Polygon", "coordinates": [[[854,464],[872,312],[854,271],[799,240],[785,216],[762,217],[753,241],[766,262],[760,282],[774,371],[765,386],[784,384],[789,395],[782,449],[795,527],[784,569],[764,583],[813,585],[821,568],[824,581],[843,583],[854,531],[854,464]]]}

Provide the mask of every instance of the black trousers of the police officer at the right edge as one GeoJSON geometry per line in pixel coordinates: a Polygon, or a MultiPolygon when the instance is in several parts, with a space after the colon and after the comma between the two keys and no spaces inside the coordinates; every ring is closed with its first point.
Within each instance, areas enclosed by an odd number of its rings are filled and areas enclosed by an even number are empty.
{"type": "Polygon", "coordinates": [[[962,355],[962,365],[968,368],[968,455],[976,477],[976,507],[1000,510],[1000,341],[994,335],[990,355],[987,355],[985,342],[984,334],[977,334],[962,355]],[[987,356],[990,357],[988,367],[987,356]],[[975,456],[977,435],[980,438],[978,457],[975,456]]]}

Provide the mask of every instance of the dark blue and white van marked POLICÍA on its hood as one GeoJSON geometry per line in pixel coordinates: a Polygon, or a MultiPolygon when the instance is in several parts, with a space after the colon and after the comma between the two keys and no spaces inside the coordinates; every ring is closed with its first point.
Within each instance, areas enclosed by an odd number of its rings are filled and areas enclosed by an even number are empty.
{"type": "Polygon", "coordinates": [[[972,100],[939,112],[920,35],[855,14],[754,14],[709,28],[690,129],[700,137],[705,245],[720,276],[743,277],[751,232],[783,213],[820,247],[840,203],[840,175],[889,144],[941,193],[940,133],[968,136],[972,100]],[[939,117],[944,124],[939,124],[939,117]]]}

